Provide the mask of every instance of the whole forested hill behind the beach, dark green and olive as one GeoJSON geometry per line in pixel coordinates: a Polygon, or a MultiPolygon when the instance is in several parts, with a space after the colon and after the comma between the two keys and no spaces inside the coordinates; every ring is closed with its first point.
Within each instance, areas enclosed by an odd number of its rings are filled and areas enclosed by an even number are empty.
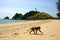
{"type": "Polygon", "coordinates": [[[52,16],[45,12],[39,11],[29,11],[22,15],[21,13],[16,13],[12,19],[14,20],[40,20],[40,19],[50,19],[52,16]]]}

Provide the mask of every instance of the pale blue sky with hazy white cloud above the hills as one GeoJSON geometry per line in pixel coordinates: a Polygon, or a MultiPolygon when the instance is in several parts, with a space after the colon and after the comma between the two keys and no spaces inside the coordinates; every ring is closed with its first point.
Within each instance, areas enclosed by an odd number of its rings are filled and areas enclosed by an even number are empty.
{"type": "Polygon", "coordinates": [[[56,17],[58,0],[0,0],[0,19],[9,16],[12,18],[16,13],[22,13],[31,10],[48,13],[56,17]]]}

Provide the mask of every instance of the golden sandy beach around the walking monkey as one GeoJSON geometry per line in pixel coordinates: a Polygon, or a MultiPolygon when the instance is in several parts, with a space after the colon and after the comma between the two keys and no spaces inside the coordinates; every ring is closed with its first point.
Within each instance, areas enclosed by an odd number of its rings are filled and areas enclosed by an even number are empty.
{"type": "Polygon", "coordinates": [[[60,40],[60,20],[36,20],[14,24],[0,24],[0,40],[60,40]],[[37,35],[25,32],[35,26],[41,26],[37,35]]]}

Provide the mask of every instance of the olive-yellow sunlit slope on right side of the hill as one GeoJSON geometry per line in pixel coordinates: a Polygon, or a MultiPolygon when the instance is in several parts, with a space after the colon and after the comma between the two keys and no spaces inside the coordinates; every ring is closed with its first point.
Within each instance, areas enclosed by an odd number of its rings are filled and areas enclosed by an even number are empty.
{"type": "Polygon", "coordinates": [[[40,12],[40,13],[37,13],[33,16],[28,17],[27,19],[29,19],[29,20],[40,20],[40,19],[51,19],[51,18],[52,18],[51,15],[44,13],[44,12],[40,12]]]}

